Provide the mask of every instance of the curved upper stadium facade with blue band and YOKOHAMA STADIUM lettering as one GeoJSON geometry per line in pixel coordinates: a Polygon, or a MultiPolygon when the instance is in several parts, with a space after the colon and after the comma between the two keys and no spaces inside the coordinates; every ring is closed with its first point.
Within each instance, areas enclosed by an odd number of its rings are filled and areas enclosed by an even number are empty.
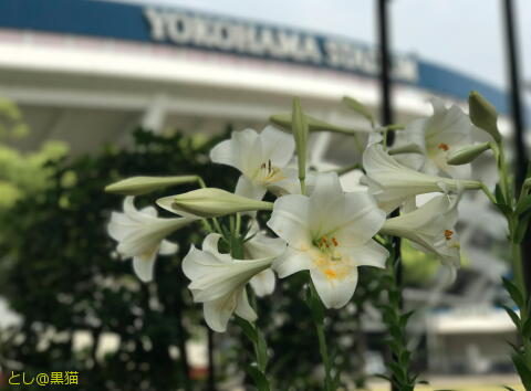
{"type": "MultiPolygon", "coordinates": [[[[140,123],[216,131],[261,127],[293,95],[315,116],[364,128],[340,105],[378,108],[375,47],[341,36],[167,7],[96,0],[0,2],[0,96],[18,103],[33,137],[74,152],[125,142],[140,123]]],[[[398,121],[429,114],[431,95],[470,89],[507,112],[503,92],[414,55],[393,57],[398,121]]],[[[332,160],[350,156],[335,144],[332,160]]],[[[330,154],[329,154],[330,155],[330,154]]]]}

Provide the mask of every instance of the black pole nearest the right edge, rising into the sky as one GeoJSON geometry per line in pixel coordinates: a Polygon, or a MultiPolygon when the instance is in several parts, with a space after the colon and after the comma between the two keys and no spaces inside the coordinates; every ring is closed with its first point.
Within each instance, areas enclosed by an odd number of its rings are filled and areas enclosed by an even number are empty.
{"type": "MultiPolygon", "coordinates": [[[[514,20],[514,7],[512,0],[503,0],[504,28],[506,28],[506,45],[507,45],[507,66],[511,92],[511,114],[514,130],[514,152],[516,152],[516,176],[517,189],[525,179],[527,171],[527,150],[524,129],[525,124],[522,114],[522,98],[521,98],[521,83],[518,57],[518,41],[517,41],[517,22],[514,20]]],[[[528,231],[525,239],[522,242],[523,260],[531,258],[531,232],[528,231]]],[[[531,266],[529,262],[523,262],[523,274],[528,294],[531,293],[531,266]]]]}

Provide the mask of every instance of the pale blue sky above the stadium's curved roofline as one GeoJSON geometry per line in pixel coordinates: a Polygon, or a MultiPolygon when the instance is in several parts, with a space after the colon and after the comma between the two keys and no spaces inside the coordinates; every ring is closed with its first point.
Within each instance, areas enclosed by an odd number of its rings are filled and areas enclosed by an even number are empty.
{"type": "MultiPolygon", "coordinates": [[[[273,22],[367,43],[374,0],[113,0],[158,3],[273,22]]],[[[391,0],[393,47],[506,86],[501,0],[391,0]]],[[[522,74],[531,80],[531,1],[518,0],[522,74]]]]}

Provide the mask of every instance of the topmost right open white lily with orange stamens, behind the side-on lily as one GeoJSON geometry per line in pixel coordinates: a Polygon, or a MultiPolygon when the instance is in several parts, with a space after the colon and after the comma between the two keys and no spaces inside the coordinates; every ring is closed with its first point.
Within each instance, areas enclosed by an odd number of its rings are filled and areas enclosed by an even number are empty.
{"type": "Polygon", "coordinates": [[[433,176],[470,178],[470,165],[450,166],[448,155],[472,142],[473,125],[458,106],[449,108],[440,98],[433,98],[434,114],[429,118],[412,121],[396,133],[393,149],[415,146],[421,154],[398,155],[397,160],[433,176]]]}

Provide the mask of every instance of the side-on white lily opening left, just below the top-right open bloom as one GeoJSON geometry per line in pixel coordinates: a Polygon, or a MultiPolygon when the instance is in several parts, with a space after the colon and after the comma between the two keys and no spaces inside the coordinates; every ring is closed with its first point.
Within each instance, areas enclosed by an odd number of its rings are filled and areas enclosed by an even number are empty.
{"type": "Polygon", "coordinates": [[[395,210],[417,194],[479,188],[479,182],[429,176],[403,166],[384,151],[379,144],[369,145],[365,149],[363,167],[368,192],[386,212],[395,210]]]}

